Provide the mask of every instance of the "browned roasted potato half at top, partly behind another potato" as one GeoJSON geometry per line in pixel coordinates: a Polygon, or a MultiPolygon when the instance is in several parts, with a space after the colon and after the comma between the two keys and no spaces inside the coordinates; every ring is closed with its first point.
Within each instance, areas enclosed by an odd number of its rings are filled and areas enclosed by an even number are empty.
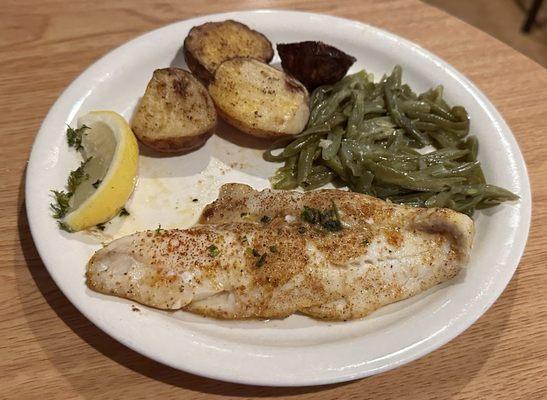
{"type": "Polygon", "coordinates": [[[234,57],[251,57],[268,63],[273,57],[270,41],[240,22],[227,20],[194,26],[184,39],[188,68],[203,82],[213,78],[222,62],[234,57]]]}

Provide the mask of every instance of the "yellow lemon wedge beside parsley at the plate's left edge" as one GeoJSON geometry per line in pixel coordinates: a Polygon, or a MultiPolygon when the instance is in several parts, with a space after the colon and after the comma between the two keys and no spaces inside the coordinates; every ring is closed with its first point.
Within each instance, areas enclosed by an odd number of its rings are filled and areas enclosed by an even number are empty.
{"type": "Polygon", "coordinates": [[[92,111],[78,119],[86,125],[82,154],[86,179],[70,199],[62,223],[80,231],[106,222],[125,205],[137,177],[139,148],[125,119],[113,111],[92,111]]]}

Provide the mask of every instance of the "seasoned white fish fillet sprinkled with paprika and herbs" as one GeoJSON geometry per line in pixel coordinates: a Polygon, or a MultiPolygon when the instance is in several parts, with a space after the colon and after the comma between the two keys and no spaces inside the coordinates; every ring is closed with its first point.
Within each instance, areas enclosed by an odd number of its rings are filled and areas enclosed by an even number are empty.
{"type": "Polygon", "coordinates": [[[97,251],[87,285],[165,309],[225,319],[300,312],[348,320],[458,274],[472,220],[342,190],[307,193],[224,185],[186,230],[139,232],[97,251]],[[342,229],[302,218],[337,210],[342,229]]]}

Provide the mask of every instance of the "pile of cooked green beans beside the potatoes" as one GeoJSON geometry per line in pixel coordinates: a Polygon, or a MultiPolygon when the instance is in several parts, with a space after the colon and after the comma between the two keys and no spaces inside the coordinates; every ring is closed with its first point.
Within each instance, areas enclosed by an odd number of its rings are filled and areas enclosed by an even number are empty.
{"type": "Polygon", "coordinates": [[[518,199],[486,183],[477,152],[465,108],[449,106],[442,86],[414,93],[395,66],[378,83],[361,71],[317,88],[306,129],[274,143],[264,159],[285,163],[271,178],[275,189],[332,182],[394,203],[472,215],[518,199]]]}

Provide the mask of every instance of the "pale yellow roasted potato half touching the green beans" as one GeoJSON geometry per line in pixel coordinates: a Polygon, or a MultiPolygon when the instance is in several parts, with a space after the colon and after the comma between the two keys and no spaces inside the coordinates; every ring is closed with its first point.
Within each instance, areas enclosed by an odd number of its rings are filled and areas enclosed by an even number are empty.
{"type": "Polygon", "coordinates": [[[306,88],[253,58],[232,58],[220,64],[209,93],[226,122],[253,136],[297,134],[310,115],[306,88]]]}

